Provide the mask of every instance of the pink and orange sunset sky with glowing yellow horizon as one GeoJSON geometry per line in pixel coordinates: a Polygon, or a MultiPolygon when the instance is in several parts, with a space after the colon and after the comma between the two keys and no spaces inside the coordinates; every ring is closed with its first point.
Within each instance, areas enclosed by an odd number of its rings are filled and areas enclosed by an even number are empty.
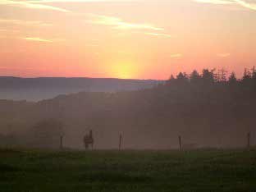
{"type": "Polygon", "coordinates": [[[256,66],[256,0],[0,0],[0,75],[166,80],[256,66]]]}

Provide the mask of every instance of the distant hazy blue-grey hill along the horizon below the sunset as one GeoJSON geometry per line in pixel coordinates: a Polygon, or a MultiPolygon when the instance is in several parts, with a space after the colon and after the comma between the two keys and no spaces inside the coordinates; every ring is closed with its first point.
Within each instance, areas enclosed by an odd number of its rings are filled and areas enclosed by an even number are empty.
{"type": "Polygon", "coordinates": [[[117,92],[148,89],[161,80],[121,80],[103,78],[18,78],[0,77],[0,99],[39,101],[59,94],[117,92]]]}

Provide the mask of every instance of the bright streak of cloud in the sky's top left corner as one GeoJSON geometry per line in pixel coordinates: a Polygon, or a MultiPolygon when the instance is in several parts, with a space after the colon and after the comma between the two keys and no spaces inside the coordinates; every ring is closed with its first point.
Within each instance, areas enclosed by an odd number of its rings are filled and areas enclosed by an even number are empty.
{"type": "Polygon", "coordinates": [[[71,12],[71,11],[68,11],[68,10],[60,8],[60,7],[53,7],[53,6],[43,5],[43,4],[39,4],[39,3],[33,3],[33,2],[29,2],[29,1],[1,0],[0,5],[29,8],[29,9],[43,9],[43,10],[52,10],[52,11],[71,12]]]}

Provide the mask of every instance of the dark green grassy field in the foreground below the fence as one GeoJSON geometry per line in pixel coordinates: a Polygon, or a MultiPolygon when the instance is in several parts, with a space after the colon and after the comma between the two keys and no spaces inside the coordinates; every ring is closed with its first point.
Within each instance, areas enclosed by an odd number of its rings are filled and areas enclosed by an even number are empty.
{"type": "Polygon", "coordinates": [[[0,191],[256,191],[256,150],[0,150],[0,191]]]}

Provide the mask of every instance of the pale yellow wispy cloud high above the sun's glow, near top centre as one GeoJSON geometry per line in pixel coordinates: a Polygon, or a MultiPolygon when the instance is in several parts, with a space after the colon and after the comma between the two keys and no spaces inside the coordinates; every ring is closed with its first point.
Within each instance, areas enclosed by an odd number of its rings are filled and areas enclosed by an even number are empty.
{"type": "Polygon", "coordinates": [[[164,30],[163,28],[156,27],[150,24],[139,24],[139,23],[131,23],[122,20],[121,18],[113,17],[113,16],[100,16],[100,15],[89,15],[88,23],[96,24],[96,25],[108,25],[114,29],[118,30],[164,30]]]}

